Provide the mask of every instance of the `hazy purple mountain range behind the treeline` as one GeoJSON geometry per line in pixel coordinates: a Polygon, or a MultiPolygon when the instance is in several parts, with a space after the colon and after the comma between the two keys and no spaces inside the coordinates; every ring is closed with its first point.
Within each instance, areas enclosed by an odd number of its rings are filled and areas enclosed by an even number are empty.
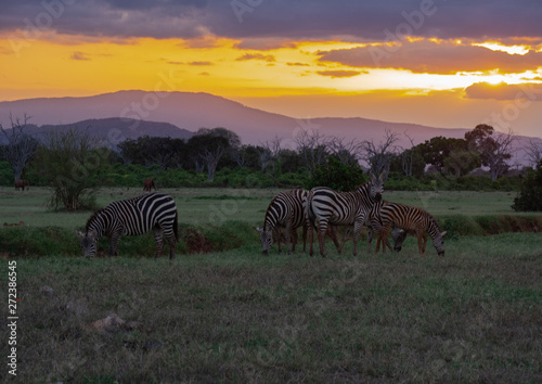
{"type": "MultiPolygon", "coordinates": [[[[333,135],[346,140],[373,140],[378,143],[385,130],[397,132],[397,145],[410,148],[403,135],[418,144],[436,136],[463,138],[468,129],[444,129],[416,124],[388,123],[354,118],[311,118],[308,120],[264,112],[241,103],[208,94],[192,92],[118,91],[85,98],[42,98],[0,102],[0,123],[10,127],[9,116],[31,116],[30,123],[51,125],[76,125],[90,130],[109,132],[113,128],[126,138],[141,135],[190,137],[202,127],[224,127],[236,132],[243,143],[259,144],[280,138],[283,148],[295,148],[295,137],[312,130],[333,135]],[[136,124],[137,121],[139,124],[136,124]],[[165,123],[150,123],[165,121],[165,123]],[[133,126],[137,125],[136,128],[133,126]],[[181,131],[181,133],[178,132],[181,131]],[[178,136],[181,135],[181,136],[178,136]]],[[[41,127],[40,129],[44,129],[41,127]]],[[[49,128],[47,128],[49,129],[49,128]]],[[[522,163],[525,146],[531,138],[518,137],[515,148],[516,163],[522,163]]],[[[532,139],[542,144],[542,140],[532,139]]]]}

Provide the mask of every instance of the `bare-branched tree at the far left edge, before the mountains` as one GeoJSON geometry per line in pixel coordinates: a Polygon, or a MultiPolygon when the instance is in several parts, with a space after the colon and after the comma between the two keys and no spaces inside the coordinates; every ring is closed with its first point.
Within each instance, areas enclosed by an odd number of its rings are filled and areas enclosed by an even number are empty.
{"type": "Polygon", "coordinates": [[[26,163],[38,149],[38,140],[24,131],[29,119],[30,117],[26,114],[22,120],[18,117],[14,119],[10,114],[11,129],[4,129],[0,125],[0,131],[7,140],[3,158],[10,164],[11,169],[13,169],[15,180],[21,179],[21,174],[26,163]]]}

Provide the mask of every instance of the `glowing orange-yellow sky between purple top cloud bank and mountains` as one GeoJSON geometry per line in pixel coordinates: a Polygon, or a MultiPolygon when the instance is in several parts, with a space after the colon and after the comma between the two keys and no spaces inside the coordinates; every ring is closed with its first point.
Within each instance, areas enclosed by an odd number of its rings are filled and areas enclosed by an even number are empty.
{"type": "MultiPolygon", "coordinates": [[[[121,17],[131,17],[127,5],[114,5],[124,10],[121,17]]],[[[542,137],[542,38],[237,37],[201,25],[188,37],[104,36],[54,28],[53,16],[67,23],[61,10],[41,9],[26,18],[37,25],[49,12],[51,25],[41,21],[47,27],[31,30],[13,22],[0,30],[0,100],[128,89],[208,92],[294,117],[360,116],[454,128],[489,120],[501,130],[542,137]]]]}

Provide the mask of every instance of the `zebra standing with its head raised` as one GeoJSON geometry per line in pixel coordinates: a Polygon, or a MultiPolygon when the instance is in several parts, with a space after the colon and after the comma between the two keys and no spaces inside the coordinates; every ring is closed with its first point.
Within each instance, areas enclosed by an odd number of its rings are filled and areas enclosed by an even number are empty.
{"type": "MultiPolygon", "coordinates": [[[[307,216],[314,228],[318,219],[318,242],[320,255],[325,255],[324,236],[328,226],[353,226],[353,255],[358,254],[358,236],[365,222],[365,217],[373,204],[382,200],[384,193],[384,172],[379,177],[371,175],[371,181],[358,185],[351,192],[337,192],[327,187],[310,190],[307,197],[307,216]]],[[[310,252],[312,256],[312,231],[309,232],[310,252]]],[[[340,253],[341,246],[334,239],[340,253]]]]}

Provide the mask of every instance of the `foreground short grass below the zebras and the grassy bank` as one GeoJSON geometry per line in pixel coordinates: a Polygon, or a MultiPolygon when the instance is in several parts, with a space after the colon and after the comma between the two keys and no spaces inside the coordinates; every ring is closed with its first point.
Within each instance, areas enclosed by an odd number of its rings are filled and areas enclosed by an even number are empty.
{"type": "Polygon", "coordinates": [[[17,379],[539,382],[540,240],[464,236],[443,258],[410,241],[325,259],[257,246],[173,263],[20,259],[17,379]],[[141,327],[83,329],[111,313],[141,327]]]}

